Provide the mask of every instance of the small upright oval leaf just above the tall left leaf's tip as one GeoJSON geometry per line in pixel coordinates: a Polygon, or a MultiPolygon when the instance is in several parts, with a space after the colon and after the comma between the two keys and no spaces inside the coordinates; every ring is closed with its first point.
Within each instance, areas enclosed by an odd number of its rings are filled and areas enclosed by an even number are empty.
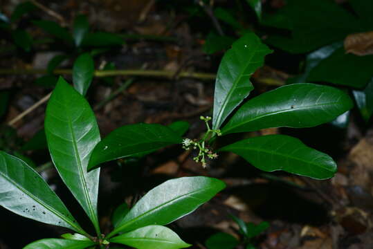
{"type": "Polygon", "coordinates": [[[89,53],[84,53],[75,60],[73,66],[74,88],[83,96],[86,95],[95,73],[95,64],[89,53]]]}

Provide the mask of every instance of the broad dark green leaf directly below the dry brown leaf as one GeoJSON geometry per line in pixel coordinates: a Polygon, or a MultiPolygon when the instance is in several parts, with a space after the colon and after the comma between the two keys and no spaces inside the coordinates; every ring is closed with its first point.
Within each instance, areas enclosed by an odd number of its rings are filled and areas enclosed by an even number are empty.
{"type": "Polygon", "coordinates": [[[339,48],[313,68],[307,80],[362,88],[373,77],[372,64],[373,55],[346,54],[344,48],[339,48]]]}

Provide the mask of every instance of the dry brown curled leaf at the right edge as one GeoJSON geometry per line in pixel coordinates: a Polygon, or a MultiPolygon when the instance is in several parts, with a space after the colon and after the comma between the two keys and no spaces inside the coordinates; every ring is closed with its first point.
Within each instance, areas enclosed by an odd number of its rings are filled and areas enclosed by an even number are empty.
{"type": "Polygon", "coordinates": [[[373,55],[373,31],[348,35],[345,39],[346,53],[373,55]]]}

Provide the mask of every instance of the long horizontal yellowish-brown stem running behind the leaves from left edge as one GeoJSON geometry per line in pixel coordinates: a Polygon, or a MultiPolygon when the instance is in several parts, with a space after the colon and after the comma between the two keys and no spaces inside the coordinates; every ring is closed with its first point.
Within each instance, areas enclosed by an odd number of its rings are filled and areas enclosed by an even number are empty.
{"type": "MultiPolygon", "coordinates": [[[[33,74],[46,74],[46,69],[37,68],[6,68],[0,69],[0,75],[33,75],[33,74]]],[[[71,75],[71,69],[56,69],[53,71],[56,75],[71,75]]],[[[143,76],[143,77],[167,77],[172,78],[174,71],[156,71],[156,70],[96,70],[95,77],[108,77],[108,76],[143,76]]],[[[215,80],[216,75],[212,73],[193,73],[183,71],[179,77],[190,77],[199,80],[215,80]]]]}

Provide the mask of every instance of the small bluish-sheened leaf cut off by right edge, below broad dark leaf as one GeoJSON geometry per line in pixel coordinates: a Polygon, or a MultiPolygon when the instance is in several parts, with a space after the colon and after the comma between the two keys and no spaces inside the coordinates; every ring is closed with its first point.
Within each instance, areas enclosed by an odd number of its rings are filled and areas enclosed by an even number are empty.
{"type": "Polygon", "coordinates": [[[363,91],[352,91],[361,116],[365,122],[370,120],[373,114],[373,78],[363,91]]]}

